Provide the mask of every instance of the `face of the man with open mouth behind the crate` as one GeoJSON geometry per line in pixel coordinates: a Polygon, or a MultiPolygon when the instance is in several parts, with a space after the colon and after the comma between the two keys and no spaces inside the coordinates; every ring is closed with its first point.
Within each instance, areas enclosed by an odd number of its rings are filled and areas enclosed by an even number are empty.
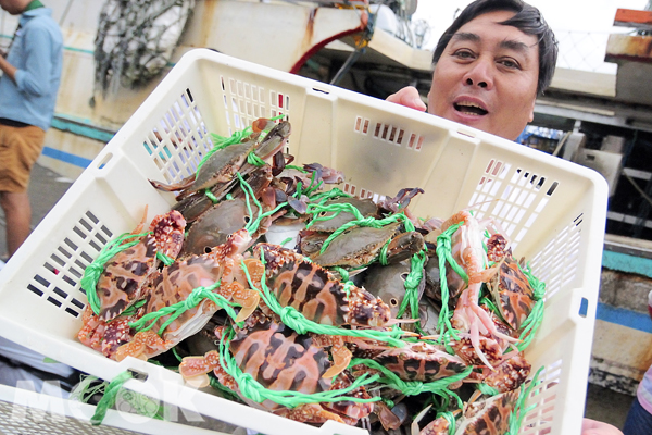
{"type": "Polygon", "coordinates": [[[451,38],[432,74],[428,112],[506,139],[532,121],[539,46],[537,37],[498,24],[514,12],[469,21],[451,38]]]}

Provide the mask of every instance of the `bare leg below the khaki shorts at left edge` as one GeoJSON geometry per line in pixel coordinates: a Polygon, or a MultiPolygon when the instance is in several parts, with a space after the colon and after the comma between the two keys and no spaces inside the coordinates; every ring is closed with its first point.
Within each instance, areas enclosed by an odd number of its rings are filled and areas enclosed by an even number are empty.
{"type": "Polygon", "coordinates": [[[29,236],[32,207],[27,192],[0,192],[0,206],[7,220],[7,251],[13,256],[23,241],[29,236]]]}

